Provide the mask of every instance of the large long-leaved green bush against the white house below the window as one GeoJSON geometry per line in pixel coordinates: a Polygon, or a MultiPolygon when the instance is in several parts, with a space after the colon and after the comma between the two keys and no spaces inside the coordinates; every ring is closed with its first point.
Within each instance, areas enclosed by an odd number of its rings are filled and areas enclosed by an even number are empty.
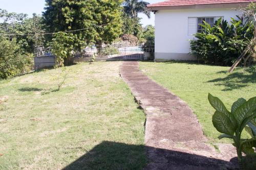
{"type": "Polygon", "coordinates": [[[205,64],[232,65],[253,38],[254,23],[231,18],[231,24],[220,18],[211,27],[204,22],[202,33],[190,40],[191,54],[205,64]]]}

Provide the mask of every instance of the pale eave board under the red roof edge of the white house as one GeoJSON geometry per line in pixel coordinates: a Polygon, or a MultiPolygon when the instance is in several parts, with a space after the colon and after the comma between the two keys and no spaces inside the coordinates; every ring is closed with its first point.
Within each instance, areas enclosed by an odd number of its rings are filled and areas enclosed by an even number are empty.
{"type": "Polygon", "coordinates": [[[209,9],[209,8],[244,8],[250,3],[229,3],[229,4],[205,4],[205,5],[184,5],[184,6],[160,6],[147,7],[150,11],[179,10],[179,9],[209,9]]]}

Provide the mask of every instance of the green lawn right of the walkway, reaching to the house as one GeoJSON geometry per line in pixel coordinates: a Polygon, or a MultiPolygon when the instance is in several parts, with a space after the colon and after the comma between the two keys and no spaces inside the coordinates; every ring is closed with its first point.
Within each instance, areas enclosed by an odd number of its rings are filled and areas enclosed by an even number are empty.
{"type": "Polygon", "coordinates": [[[218,96],[229,110],[238,98],[248,100],[256,94],[255,72],[249,74],[243,69],[227,74],[228,67],[182,62],[140,62],[140,68],[150,78],[188,103],[212,144],[231,140],[217,138],[220,133],[211,122],[214,109],[207,100],[208,93],[218,96]]]}

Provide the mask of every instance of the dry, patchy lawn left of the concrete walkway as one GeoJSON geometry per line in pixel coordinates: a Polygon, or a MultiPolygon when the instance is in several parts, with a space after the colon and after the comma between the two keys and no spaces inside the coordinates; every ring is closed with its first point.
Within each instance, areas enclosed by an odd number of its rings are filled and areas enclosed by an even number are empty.
{"type": "Polygon", "coordinates": [[[121,62],[0,81],[0,169],[141,169],[145,115],[119,76],[121,62]]]}

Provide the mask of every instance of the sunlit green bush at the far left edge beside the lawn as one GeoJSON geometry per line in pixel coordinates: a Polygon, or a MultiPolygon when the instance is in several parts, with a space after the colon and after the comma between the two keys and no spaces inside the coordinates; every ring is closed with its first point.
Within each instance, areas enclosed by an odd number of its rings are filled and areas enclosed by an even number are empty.
{"type": "Polygon", "coordinates": [[[0,41],[0,79],[6,79],[31,70],[31,55],[25,55],[16,39],[0,41]]]}

